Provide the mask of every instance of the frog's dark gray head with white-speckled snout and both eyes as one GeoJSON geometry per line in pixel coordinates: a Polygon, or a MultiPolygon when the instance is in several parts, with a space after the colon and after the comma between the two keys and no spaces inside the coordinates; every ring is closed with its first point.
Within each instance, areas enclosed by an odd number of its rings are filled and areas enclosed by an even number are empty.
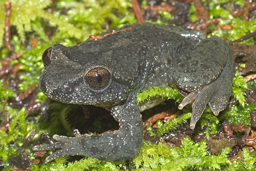
{"type": "Polygon", "coordinates": [[[106,62],[82,54],[77,46],[55,44],[42,58],[45,69],[40,76],[41,89],[53,100],[109,106],[127,97],[128,87],[113,79],[114,72],[106,62]]]}

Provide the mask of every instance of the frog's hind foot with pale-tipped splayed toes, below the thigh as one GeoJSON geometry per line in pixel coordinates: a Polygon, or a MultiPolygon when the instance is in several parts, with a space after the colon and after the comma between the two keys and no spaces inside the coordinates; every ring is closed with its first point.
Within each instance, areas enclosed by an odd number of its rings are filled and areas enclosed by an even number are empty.
{"type": "Polygon", "coordinates": [[[234,74],[229,67],[229,65],[226,65],[221,75],[215,81],[204,86],[198,92],[191,92],[179,105],[179,109],[182,109],[188,103],[192,103],[190,129],[195,128],[207,103],[214,115],[218,115],[220,111],[223,111],[226,108],[230,97],[232,77],[234,74]]]}

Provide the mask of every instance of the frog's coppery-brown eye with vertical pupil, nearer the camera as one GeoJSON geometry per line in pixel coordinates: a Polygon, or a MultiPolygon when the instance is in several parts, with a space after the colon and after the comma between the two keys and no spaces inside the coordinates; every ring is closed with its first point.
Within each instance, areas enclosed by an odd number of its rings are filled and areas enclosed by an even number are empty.
{"type": "Polygon", "coordinates": [[[85,80],[90,87],[99,89],[108,85],[110,77],[109,70],[99,67],[89,70],[85,75],[85,80]]]}

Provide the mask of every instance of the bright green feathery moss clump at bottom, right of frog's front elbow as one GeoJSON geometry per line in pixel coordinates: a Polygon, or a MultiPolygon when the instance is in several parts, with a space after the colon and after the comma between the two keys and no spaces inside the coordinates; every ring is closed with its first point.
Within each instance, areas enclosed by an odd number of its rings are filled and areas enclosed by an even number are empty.
{"type": "MultiPolygon", "coordinates": [[[[167,147],[145,141],[140,154],[134,159],[143,162],[143,167],[138,170],[189,170],[189,168],[220,169],[221,166],[230,163],[227,154],[230,148],[223,149],[219,156],[207,155],[207,144],[205,141],[193,143],[188,137],[181,141],[180,147],[167,147]],[[160,165],[159,165],[160,163],[160,165]]],[[[137,168],[141,165],[136,161],[137,168]]]]}

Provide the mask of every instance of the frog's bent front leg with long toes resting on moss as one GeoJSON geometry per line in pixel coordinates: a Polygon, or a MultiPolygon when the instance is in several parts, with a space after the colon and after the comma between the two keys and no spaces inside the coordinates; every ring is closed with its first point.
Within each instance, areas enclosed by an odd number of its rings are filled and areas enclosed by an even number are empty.
{"type": "Polygon", "coordinates": [[[143,124],[136,104],[136,95],[127,99],[122,105],[113,106],[111,114],[119,122],[117,131],[106,132],[100,136],[64,137],[54,135],[53,138],[59,142],[34,146],[33,150],[61,148],[48,156],[45,159],[46,162],[67,155],[95,157],[104,161],[122,161],[136,157],[143,143],[143,124]]]}

